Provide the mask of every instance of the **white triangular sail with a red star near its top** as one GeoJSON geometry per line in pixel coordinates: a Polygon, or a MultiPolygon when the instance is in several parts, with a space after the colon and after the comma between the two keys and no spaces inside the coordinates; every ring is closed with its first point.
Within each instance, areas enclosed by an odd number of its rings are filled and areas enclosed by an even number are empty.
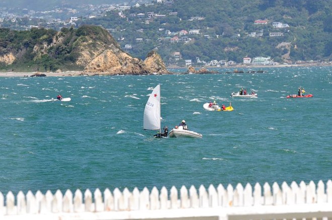
{"type": "Polygon", "coordinates": [[[154,87],[145,104],[143,129],[160,131],[160,84],[154,87]]]}

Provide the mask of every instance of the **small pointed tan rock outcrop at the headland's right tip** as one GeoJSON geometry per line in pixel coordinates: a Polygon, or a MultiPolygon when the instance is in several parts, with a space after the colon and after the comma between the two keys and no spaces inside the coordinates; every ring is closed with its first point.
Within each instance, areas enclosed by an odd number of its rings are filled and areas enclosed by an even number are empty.
{"type": "Polygon", "coordinates": [[[165,74],[169,73],[159,54],[150,52],[144,60],[144,64],[149,73],[165,74]]]}

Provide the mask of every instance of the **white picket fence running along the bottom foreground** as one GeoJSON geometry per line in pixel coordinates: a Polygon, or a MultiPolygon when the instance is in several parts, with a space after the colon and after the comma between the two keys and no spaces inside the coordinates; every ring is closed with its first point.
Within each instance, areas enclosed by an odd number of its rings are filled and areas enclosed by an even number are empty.
{"type": "Polygon", "coordinates": [[[263,190],[256,184],[245,187],[237,184],[224,188],[201,185],[189,190],[182,186],[180,193],[172,187],[170,193],[162,187],[160,192],[153,187],[151,192],[145,187],[142,191],[127,188],[113,193],[106,189],[104,195],[99,189],[94,194],[87,189],[84,196],[80,190],[73,195],[67,190],[63,195],[57,190],[34,195],[20,191],[15,196],[10,191],[0,192],[0,219],[149,219],[149,218],[194,218],[199,219],[332,219],[332,181],[325,185],[313,181],[297,185],[284,182],[281,188],[277,183],[271,187],[265,183],[263,190]],[[179,197],[180,195],[180,197],[179,197]],[[6,204],[6,205],[5,205],[6,204]]]}

